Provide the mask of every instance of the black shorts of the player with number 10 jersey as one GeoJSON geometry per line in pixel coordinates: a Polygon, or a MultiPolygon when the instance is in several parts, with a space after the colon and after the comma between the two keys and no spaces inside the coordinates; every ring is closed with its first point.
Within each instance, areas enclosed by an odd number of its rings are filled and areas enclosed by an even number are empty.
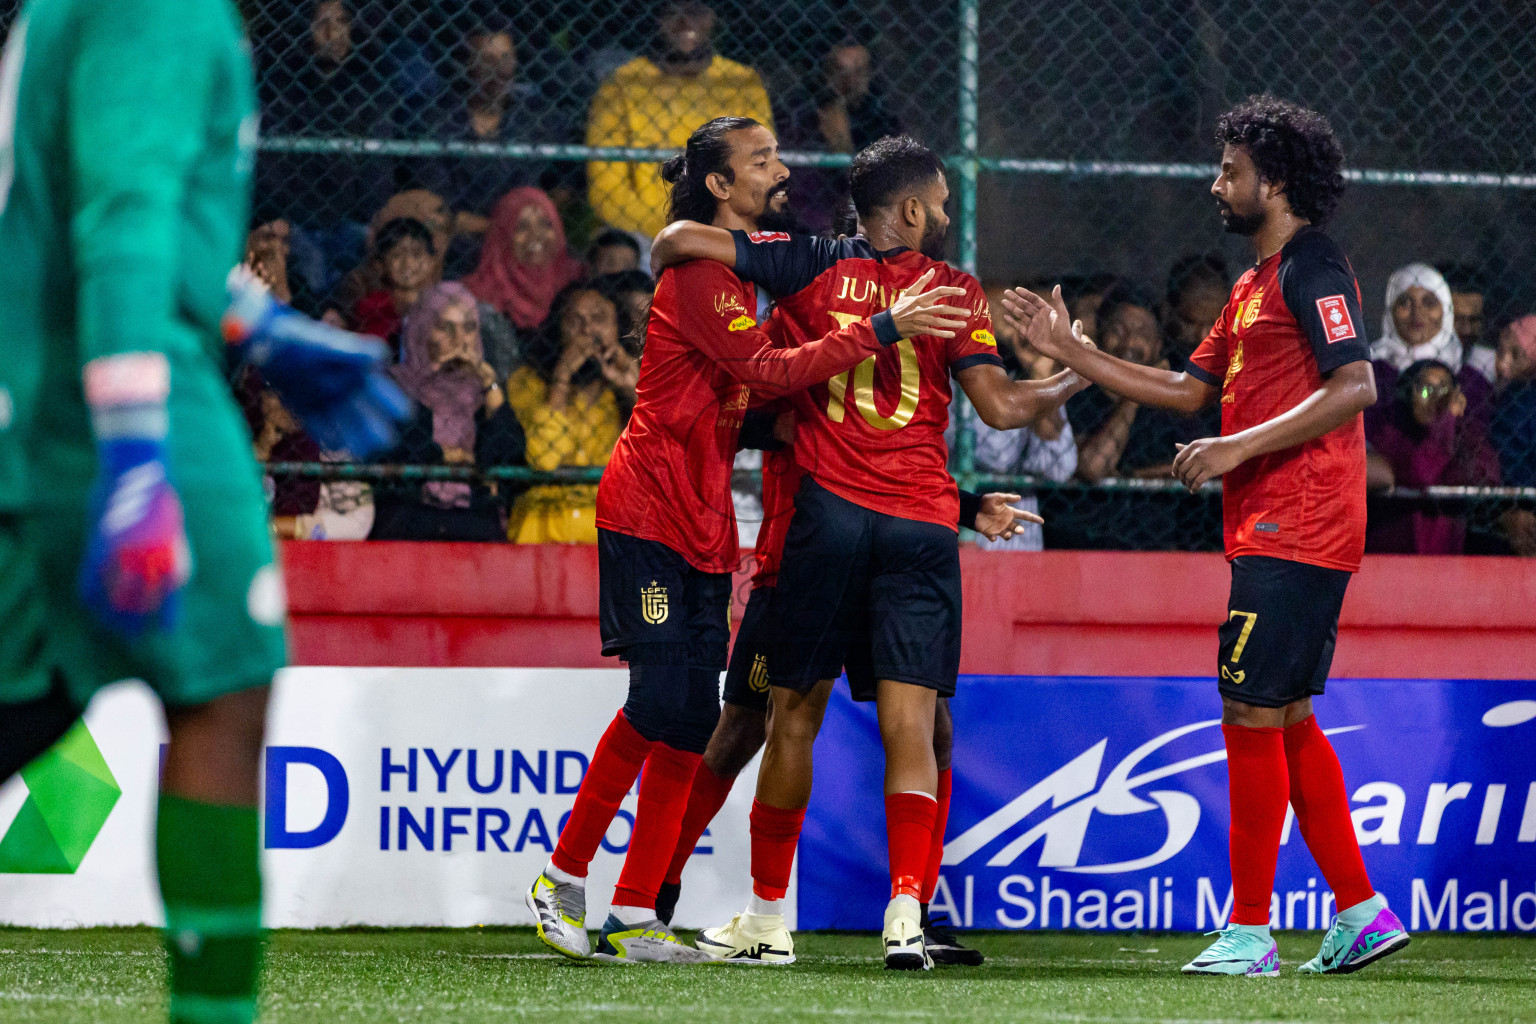
{"type": "Polygon", "coordinates": [[[799,692],[848,669],[854,697],[889,679],[955,692],[960,537],[871,511],[805,477],[773,605],[770,682],[799,692]]]}

